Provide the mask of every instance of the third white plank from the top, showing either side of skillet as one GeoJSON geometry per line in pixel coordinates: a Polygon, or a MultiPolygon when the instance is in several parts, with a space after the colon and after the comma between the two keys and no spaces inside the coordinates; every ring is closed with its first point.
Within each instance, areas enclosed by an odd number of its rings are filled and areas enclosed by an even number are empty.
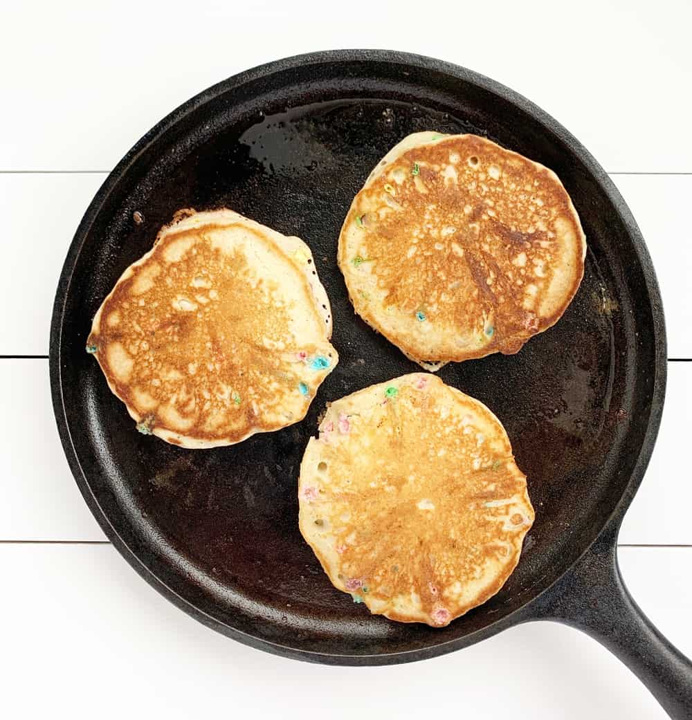
{"type": "MultiPolygon", "coordinates": [[[[691,420],[692,363],[669,363],[668,371],[660,436],[625,518],[624,544],[692,544],[692,485],[680,456],[691,420]]],[[[0,360],[0,397],[0,540],[103,539],[63,456],[50,405],[48,361],[0,360]]]]}

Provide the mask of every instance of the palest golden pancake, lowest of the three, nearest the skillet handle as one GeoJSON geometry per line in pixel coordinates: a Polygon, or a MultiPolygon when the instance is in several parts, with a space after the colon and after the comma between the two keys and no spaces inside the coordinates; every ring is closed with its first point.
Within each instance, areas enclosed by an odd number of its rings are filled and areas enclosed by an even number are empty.
{"type": "Polygon", "coordinates": [[[298,498],[302,536],[338,590],[433,627],[500,590],[534,521],[500,420],[427,373],[333,402],[298,498]]]}

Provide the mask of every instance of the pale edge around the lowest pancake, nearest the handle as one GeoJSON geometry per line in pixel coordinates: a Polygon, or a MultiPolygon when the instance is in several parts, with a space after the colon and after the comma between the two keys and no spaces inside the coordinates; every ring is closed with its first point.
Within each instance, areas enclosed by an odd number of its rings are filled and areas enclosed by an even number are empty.
{"type": "MultiPolygon", "coordinates": [[[[490,416],[490,420],[492,420],[494,423],[497,424],[498,428],[500,428],[502,432],[503,440],[506,441],[508,446],[511,449],[511,441],[507,435],[507,431],[505,430],[505,427],[500,422],[500,419],[493,413],[490,408],[487,407],[487,405],[484,405],[480,400],[477,400],[475,397],[471,397],[470,395],[466,395],[461,390],[457,390],[456,387],[451,387],[451,385],[447,385],[444,383],[439,377],[433,374],[426,374],[426,373],[410,373],[406,375],[402,375],[400,377],[394,378],[392,380],[389,380],[387,382],[377,383],[370,385],[369,387],[364,388],[363,390],[358,390],[356,392],[351,393],[351,395],[346,395],[345,397],[341,397],[339,400],[335,400],[334,402],[328,403],[327,410],[325,415],[323,416],[322,420],[320,420],[320,426],[319,430],[320,432],[323,431],[324,426],[326,426],[328,423],[338,423],[338,416],[340,413],[345,413],[348,410],[347,414],[356,414],[359,410],[369,410],[369,408],[372,407],[373,400],[372,400],[372,394],[373,392],[377,394],[379,391],[381,391],[383,388],[388,387],[392,384],[395,384],[397,387],[400,387],[401,384],[405,384],[407,382],[412,382],[413,379],[417,378],[428,378],[430,382],[438,382],[441,384],[444,384],[446,389],[453,391],[454,395],[457,395],[459,397],[459,400],[461,400],[464,403],[469,403],[470,405],[474,405],[480,410],[480,413],[487,413],[487,415],[490,416]]],[[[338,556],[338,553],[336,552],[336,549],[333,547],[333,544],[331,544],[329,541],[311,541],[311,538],[313,538],[313,531],[314,531],[314,519],[313,508],[310,508],[309,505],[305,505],[304,503],[300,502],[301,498],[301,492],[302,489],[306,486],[319,484],[318,482],[315,482],[315,469],[314,467],[318,464],[318,460],[320,457],[320,441],[318,438],[311,437],[308,442],[307,446],[305,447],[305,453],[303,454],[302,461],[300,464],[300,474],[298,476],[298,498],[299,498],[299,513],[298,513],[298,527],[300,529],[300,534],[302,535],[303,539],[305,539],[305,542],[310,546],[310,549],[313,550],[315,553],[315,557],[317,557],[318,561],[320,562],[320,565],[322,566],[322,569],[324,570],[325,574],[329,577],[329,580],[331,581],[332,585],[337,589],[341,590],[341,592],[346,593],[347,595],[353,595],[351,590],[346,589],[346,585],[343,582],[342,579],[339,577],[336,577],[336,575],[332,575],[330,572],[331,568],[338,568],[341,564],[341,559],[338,556]]],[[[521,470],[518,470],[518,472],[521,474],[522,477],[525,476],[523,473],[521,473],[521,470]]],[[[507,582],[508,577],[514,572],[516,569],[516,566],[519,562],[519,559],[521,557],[521,550],[524,545],[524,537],[531,529],[531,526],[534,523],[535,519],[535,513],[533,505],[531,505],[531,500],[529,498],[529,490],[526,485],[526,482],[524,482],[524,493],[521,497],[521,502],[518,503],[518,506],[521,507],[521,510],[524,510],[526,513],[527,521],[524,524],[524,531],[521,534],[521,537],[518,538],[518,541],[513,544],[513,555],[508,558],[508,561],[503,567],[503,572],[499,574],[495,578],[495,582],[490,583],[490,585],[487,585],[486,588],[482,591],[482,593],[479,593],[477,602],[474,603],[472,607],[477,607],[482,605],[483,603],[487,602],[487,600],[490,600],[490,598],[493,597],[493,595],[496,595],[501,588],[503,588],[503,585],[505,585],[505,582],[507,582]]],[[[426,616],[415,617],[415,618],[402,618],[402,617],[392,617],[390,614],[387,614],[387,612],[382,611],[378,612],[377,609],[372,608],[371,606],[368,606],[368,609],[373,614],[384,614],[385,617],[388,619],[397,621],[397,622],[404,622],[404,623],[413,623],[413,622],[421,622],[430,625],[431,627],[441,627],[436,625],[431,625],[428,621],[428,618],[426,616]]],[[[472,608],[469,608],[472,609],[472,608]]],[[[459,616],[457,616],[459,617],[459,616]]],[[[455,618],[451,618],[451,621],[454,621],[455,618]]],[[[448,623],[449,624],[449,623],[448,623]]]]}

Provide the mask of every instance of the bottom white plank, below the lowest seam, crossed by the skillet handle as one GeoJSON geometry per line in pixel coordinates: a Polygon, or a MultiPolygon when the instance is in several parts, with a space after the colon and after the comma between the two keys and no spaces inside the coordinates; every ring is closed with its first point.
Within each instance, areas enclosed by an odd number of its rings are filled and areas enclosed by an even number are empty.
{"type": "MultiPolygon", "coordinates": [[[[692,652],[692,549],[625,549],[644,611],[692,652]],[[681,572],[682,571],[682,572],[681,572]]],[[[177,610],[112,546],[0,546],[7,717],[665,720],[639,680],[578,631],[534,623],[424,663],[325,667],[249,649],[177,610]],[[40,691],[37,692],[37,687],[40,691]],[[302,698],[302,702],[299,700],[302,698]]]]}

